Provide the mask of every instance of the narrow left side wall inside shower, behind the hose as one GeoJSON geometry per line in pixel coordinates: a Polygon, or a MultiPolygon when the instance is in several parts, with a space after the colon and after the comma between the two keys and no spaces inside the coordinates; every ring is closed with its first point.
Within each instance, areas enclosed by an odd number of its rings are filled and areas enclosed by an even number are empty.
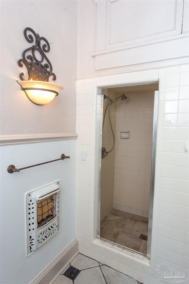
{"type": "MultiPolygon", "coordinates": [[[[115,99],[116,94],[110,89],[103,89],[102,96],[106,95],[112,100],[115,99]]],[[[103,117],[108,99],[103,100],[103,117]]],[[[106,110],[105,122],[102,131],[102,147],[106,151],[110,151],[113,146],[113,135],[110,128],[110,121],[108,115],[109,106],[106,110]]],[[[110,106],[110,118],[113,132],[115,133],[116,125],[116,104],[110,106]]],[[[101,160],[101,196],[100,196],[100,220],[102,220],[113,208],[113,187],[114,187],[114,161],[115,161],[115,147],[114,149],[101,160]]]]}

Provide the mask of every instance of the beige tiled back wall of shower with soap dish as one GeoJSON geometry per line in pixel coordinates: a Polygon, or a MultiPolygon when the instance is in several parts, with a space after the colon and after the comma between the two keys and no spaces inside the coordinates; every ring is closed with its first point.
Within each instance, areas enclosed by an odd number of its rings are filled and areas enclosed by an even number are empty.
{"type": "Polygon", "coordinates": [[[113,207],[148,217],[154,91],[126,96],[116,109],[113,207]],[[130,138],[120,138],[121,130],[129,130],[130,138]]]}

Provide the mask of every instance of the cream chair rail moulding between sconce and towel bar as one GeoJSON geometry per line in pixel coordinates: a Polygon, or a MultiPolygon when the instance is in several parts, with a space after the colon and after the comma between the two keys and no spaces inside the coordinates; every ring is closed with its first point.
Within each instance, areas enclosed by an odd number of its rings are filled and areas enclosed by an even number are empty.
{"type": "Polygon", "coordinates": [[[77,139],[77,133],[44,134],[44,135],[2,135],[0,145],[27,144],[60,140],[77,139]]]}

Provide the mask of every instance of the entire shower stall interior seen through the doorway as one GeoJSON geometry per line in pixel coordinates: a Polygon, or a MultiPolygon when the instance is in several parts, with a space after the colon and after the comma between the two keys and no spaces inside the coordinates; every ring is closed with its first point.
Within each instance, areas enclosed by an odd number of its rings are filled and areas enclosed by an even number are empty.
{"type": "Polygon", "coordinates": [[[150,257],[158,82],[102,89],[97,237],[150,257]]]}

